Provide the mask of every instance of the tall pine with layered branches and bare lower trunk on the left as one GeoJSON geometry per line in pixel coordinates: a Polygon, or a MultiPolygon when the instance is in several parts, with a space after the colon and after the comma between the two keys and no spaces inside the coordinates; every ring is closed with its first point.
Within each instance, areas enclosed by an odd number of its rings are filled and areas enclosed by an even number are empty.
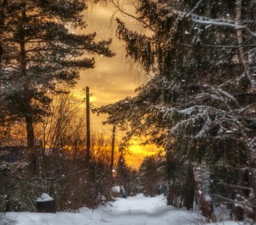
{"type": "MultiPolygon", "coordinates": [[[[67,26],[84,28],[81,0],[8,1],[15,17],[5,20],[2,29],[2,101],[10,117],[26,121],[27,145],[35,145],[33,123],[50,104],[48,92],[62,92],[74,86],[79,70],[93,68],[88,54],[111,57],[111,40],[94,42],[93,34],[75,34],[67,26]]],[[[2,5],[2,10],[5,10],[2,5]]],[[[3,20],[3,19],[2,19],[3,20]]]]}

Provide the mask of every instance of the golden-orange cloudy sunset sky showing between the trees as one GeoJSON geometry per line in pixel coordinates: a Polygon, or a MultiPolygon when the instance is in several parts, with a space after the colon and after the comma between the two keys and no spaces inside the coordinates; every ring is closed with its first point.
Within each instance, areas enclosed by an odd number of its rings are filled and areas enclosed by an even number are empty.
{"type": "MultiPolygon", "coordinates": [[[[81,79],[75,88],[77,95],[85,95],[83,89],[89,86],[90,93],[93,94],[91,102],[94,107],[111,104],[127,96],[135,95],[134,90],[146,80],[142,70],[125,57],[124,45],[115,37],[117,23],[113,18],[119,17],[135,28],[138,25],[130,20],[129,17],[123,17],[123,15],[115,13],[115,11],[114,7],[110,7],[109,5],[108,7],[99,4],[90,6],[85,13],[88,24],[87,28],[85,31],[75,31],[77,33],[91,33],[96,31],[96,40],[108,39],[109,37],[113,38],[111,49],[116,55],[113,58],[104,58],[96,55],[96,68],[81,71],[81,79]]],[[[111,135],[112,127],[102,125],[104,119],[104,115],[91,115],[92,132],[104,132],[111,135]]],[[[123,133],[117,130],[117,139],[120,139],[123,133]]],[[[154,154],[154,150],[156,150],[152,146],[142,147],[139,145],[139,142],[139,139],[133,139],[133,145],[130,148],[132,154],[126,156],[126,162],[134,168],[138,168],[145,155],[154,154]]]]}

